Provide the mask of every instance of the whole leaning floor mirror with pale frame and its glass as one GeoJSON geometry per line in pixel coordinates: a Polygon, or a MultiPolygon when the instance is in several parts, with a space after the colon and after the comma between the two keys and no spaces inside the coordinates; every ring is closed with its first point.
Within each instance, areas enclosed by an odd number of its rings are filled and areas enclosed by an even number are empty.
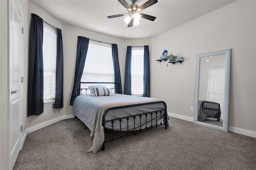
{"type": "Polygon", "coordinates": [[[231,49],[197,55],[194,123],[228,131],[231,49]]]}

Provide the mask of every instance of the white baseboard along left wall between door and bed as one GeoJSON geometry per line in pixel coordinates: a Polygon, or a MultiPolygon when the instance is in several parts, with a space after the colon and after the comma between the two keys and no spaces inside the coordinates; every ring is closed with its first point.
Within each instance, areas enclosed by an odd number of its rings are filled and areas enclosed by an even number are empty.
{"type": "Polygon", "coordinates": [[[64,119],[71,119],[71,118],[74,118],[74,117],[75,117],[74,115],[64,115],[64,116],[57,117],[55,119],[46,121],[44,123],[40,123],[38,125],[35,125],[33,127],[30,127],[28,129],[26,129],[26,131],[25,131],[25,133],[24,133],[24,135],[22,137],[22,147],[24,145],[24,142],[25,142],[25,139],[26,139],[28,133],[34,132],[34,131],[36,131],[38,129],[41,129],[43,127],[46,127],[46,126],[51,125],[53,123],[56,123],[58,121],[61,121],[61,120],[64,120],[64,119]]]}

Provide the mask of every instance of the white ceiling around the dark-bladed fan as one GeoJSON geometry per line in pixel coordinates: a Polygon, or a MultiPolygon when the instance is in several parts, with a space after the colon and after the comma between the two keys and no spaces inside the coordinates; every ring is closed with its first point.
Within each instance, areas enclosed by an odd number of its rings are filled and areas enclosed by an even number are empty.
{"type": "MultiPolygon", "coordinates": [[[[234,0],[158,0],[142,11],[155,16],[150,21],[140,18],[140,24],[127,27],[125,16],[108,19],[107,16],[127,13],[117,0],[32,0],[55,18],[85,29],[124,38],[150,38],[169,29],[194,20],[234,0]]],[[[130,4],[129,0],[126,0],[130,4]]],[[[138,6],[147,0],[138,0],[138,6]]],[[[54,23],[52,23],[54,25],[54,23]]]]}

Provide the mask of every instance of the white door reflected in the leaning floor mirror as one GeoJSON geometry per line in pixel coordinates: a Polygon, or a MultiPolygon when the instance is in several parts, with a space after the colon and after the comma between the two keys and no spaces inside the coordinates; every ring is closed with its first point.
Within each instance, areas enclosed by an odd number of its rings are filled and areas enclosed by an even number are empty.
{"type": "MultiPolygon", "coordinates": [[[[223,110],[224,104],[224,84],[225,84],[225,69],[210,70],[207,100],[214,101],[220,104],[220,110],[223,110]]],[[[221,113],[220,119],[223,119],[221,113]]]]}

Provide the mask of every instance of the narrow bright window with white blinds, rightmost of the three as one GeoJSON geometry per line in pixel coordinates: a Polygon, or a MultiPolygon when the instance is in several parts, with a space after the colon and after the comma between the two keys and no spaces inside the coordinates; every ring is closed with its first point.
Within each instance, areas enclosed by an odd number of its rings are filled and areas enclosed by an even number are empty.
{"type": "Polygon", "coordinates": [[[132,95],[142,96],[144,84],[144,47],[132,47],[131,74],[132,95]]]}

